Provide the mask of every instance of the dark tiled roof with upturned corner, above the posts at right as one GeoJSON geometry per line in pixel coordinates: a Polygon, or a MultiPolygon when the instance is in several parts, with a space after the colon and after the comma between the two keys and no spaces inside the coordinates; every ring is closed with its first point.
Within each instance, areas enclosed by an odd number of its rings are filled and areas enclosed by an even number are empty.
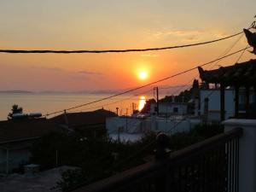
{"type": "Polygon", "coordinates": [[[233,66],[219,67],[214,70],[203,70],[198,67],[202,81],[213,84],[255,84],[256,60],[236,63],[233,66]]]}

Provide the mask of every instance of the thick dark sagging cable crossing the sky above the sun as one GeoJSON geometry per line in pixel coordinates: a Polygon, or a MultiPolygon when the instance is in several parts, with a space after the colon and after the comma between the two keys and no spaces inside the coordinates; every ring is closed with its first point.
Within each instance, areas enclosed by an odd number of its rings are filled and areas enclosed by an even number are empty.
{"type": "Polygon", "coordinates": [[[196,43],[196,44],[183,44],[183,45],[175,45],[169,47],[161,47],[161,48],[147,48],[147,49],[109,49],[109,50],[26,50],[26,49],[0,49],[0,53],[12,53],[12,54],[29,54],[29,53],[54,53],[54,54],[81,54],[81,53],[125,53],[125,52],[142,52],[142,51],[155,51],[155,50],[165,50],[165,49],[177,49],[184,47],[192,47],[201,44],[212,44],[218,41],[222,41],[224,39],[233,38],[237,35],[240,35],[243,32],[238,32],[236,34],[230,35],[224,38],[218,38],[211,41],[196,43]]]}

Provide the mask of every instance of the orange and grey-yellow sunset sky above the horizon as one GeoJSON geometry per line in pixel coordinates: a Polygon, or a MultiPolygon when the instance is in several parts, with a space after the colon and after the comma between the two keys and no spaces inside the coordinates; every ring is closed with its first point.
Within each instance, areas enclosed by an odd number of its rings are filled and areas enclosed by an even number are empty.
{"type": "MultiPolygon", "coordinates": [[[[241,32],[255,0],[1,0],[0,49],[143,49],[241,32]]],[[[136,87],[216,59],[236,38],[185,49],[111,54],[0,54],[0,90],[136,87]],[[139,79],[138,73],[147,78],[139,79]]],[[[247,46],[243,37],[236,48],[247,46]]],[[[239,55],[221,61],[233,64],[239,55]]],[[[246,53],[241,61],[255,56],[246,53]]],[[[187,84],[187,73],[161,84],[187,84]]]]}

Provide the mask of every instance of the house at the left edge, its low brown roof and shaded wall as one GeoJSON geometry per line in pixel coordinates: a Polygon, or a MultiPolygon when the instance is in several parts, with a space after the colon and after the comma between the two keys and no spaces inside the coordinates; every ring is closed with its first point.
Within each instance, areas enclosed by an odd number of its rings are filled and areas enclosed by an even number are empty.
{"type": "Polygon", "coordinates": [[[0,172],[26,164],[32,143],[50,131],[61,129],[43,118],[0,121],[0,172]]]}

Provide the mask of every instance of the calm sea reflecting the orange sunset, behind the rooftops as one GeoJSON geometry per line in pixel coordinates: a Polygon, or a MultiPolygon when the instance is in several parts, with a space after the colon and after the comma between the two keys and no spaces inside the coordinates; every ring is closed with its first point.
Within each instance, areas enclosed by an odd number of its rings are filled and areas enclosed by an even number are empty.
{"type": "MultiPolygon", "coordinates": [[[[111,94],[112,95],[112,94],[111,94]]],[[[0,93],[0,120],[7,119],[13,104],[18,104],[23,108],[23,113],[52,113],[65,108],[71,108],[86,102],[93,102],[108,94],[73,94],[73,93],[0,93]]],[[[118,96],[104,102],[98,102],[82,108],[74,109],[70,112],[92,111],[98,108],[105,108],[116,111],[119,114],[131,113],[132,102],[141,108],[143,101],[148,96],[118,96]]]]}

